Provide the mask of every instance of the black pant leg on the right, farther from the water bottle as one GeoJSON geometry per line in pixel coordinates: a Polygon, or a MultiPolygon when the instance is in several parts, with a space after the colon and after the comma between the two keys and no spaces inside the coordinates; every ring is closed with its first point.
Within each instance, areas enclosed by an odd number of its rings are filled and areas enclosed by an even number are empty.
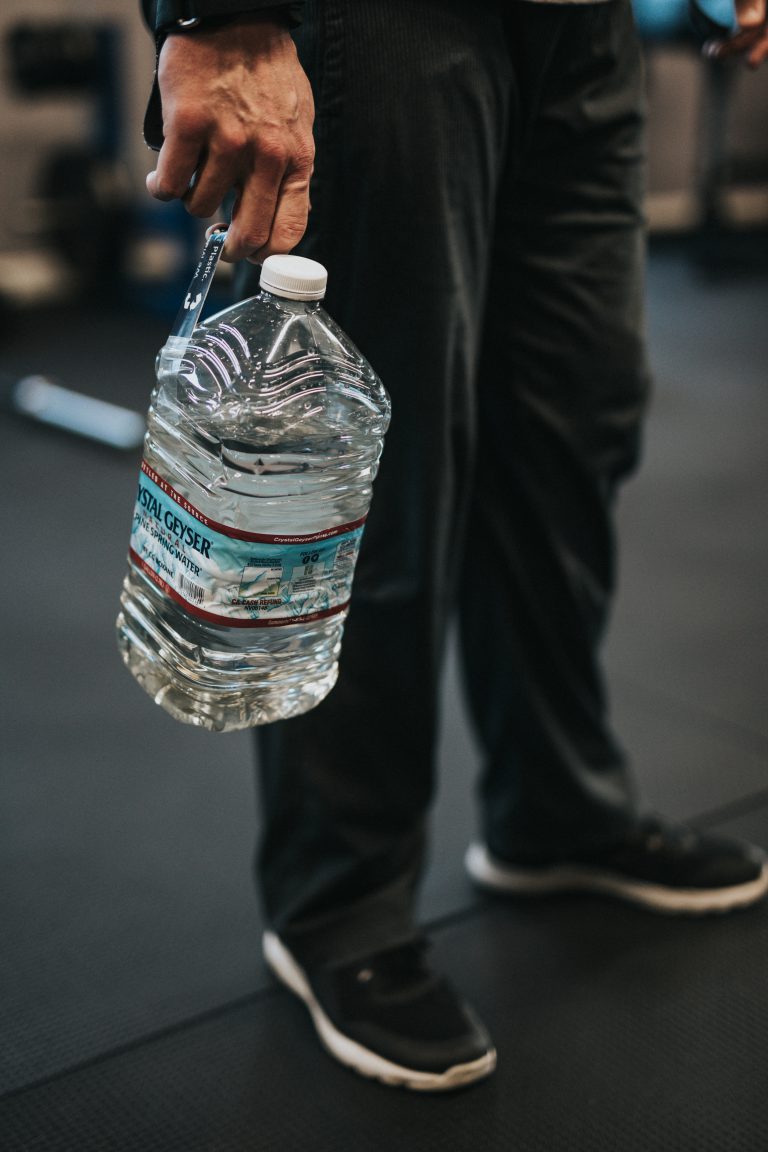
{"type": "Polygon", "coordinates": [[[511,7],[518,73],[548,61],[500,198],[459,602],[486,839],[546,857],[634,816],[600,647],[647,393],[642,96],[629,0],[511,7]]]}

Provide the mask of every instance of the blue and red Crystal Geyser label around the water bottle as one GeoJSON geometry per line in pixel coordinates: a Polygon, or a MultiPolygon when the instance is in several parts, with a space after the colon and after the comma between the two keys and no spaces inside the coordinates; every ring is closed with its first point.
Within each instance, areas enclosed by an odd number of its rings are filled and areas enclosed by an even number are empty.
{"type": "Polygon", "coordinates": [[[200,620],[305,623],[347,608],[364,524],[307,536],[242,531],[204,516],[143,461],[130,561],[200,620]]]}

